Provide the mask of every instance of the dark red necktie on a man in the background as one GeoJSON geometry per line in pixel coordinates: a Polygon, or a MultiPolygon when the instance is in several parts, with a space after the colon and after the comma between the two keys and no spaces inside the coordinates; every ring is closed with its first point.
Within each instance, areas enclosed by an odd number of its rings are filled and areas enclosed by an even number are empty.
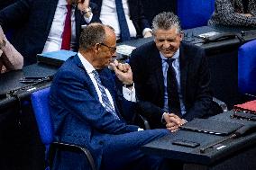
{"type": "Polygon", "coordinates": [[[71,9],[72,5],[67,4],[67,15],[65,19],[65,25],[64,25],[64,31],[62,34],[62,43],[61,43],[61,49],[70,49],[70,41],[71,41],[71,9]]]}

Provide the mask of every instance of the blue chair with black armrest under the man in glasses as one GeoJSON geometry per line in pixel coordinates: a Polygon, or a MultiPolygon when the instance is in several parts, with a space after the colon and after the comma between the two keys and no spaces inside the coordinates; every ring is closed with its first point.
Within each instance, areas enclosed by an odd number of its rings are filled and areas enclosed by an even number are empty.
{"type": "Polygon", "coordinates": [[[53,141],[54,130],[50,118],[49,94],[50,87],[34,92],[31,96],[32,109],[37,121],[41,142],[46,148],[46,164],[49,165],[47,169],[50,169],[50,166],[52,166],[52,160],[54,158],[55,151],[58,148],[66,151],[83,153],[87,158],[85,161],[88,161],[91,169],[96,170],[95,161],[87,148],[53,141]]]}

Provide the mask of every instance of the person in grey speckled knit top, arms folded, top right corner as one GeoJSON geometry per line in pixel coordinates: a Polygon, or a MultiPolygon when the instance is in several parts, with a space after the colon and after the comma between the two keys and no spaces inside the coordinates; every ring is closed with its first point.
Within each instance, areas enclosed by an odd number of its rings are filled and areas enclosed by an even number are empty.
{"type": "Polygon", "coordinates": [[[215,13],[208,24],[256,27],[256,1],[215,0],[215,13]]]}

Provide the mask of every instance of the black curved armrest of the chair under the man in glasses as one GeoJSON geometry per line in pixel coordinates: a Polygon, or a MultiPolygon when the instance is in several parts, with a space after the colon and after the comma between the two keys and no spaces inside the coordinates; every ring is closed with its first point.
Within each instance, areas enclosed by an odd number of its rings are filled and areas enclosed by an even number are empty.
{"type": "Polygon", "coordinates": [[[94,158],[92,157],[90,151],[87,148],[82,148],[74,144],[67,144],[67,143],[61,143],[61,142],[52,142],[50,144],[50,149],[49,149],[50,167],[52,166],[52,163],[53,163],[53,158],[54,158],[54,154],[56,153],[55,152],[56,148],[59,148],[61,150],[68,150],[70,152],[82,152],[87,157],[87,160],[92,170],[96,170],[94,158]]]}

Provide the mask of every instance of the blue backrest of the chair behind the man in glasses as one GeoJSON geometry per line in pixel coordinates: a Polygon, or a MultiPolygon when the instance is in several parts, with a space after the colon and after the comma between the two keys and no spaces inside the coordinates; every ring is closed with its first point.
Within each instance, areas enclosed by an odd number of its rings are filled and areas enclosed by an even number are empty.
{"type": "Polygon", "coordinates": [[[37,121],[41,142],[49,146],[53,141],[53,126],[49,109],[50,87],[32,93],[32,109],[37,121]]]}

